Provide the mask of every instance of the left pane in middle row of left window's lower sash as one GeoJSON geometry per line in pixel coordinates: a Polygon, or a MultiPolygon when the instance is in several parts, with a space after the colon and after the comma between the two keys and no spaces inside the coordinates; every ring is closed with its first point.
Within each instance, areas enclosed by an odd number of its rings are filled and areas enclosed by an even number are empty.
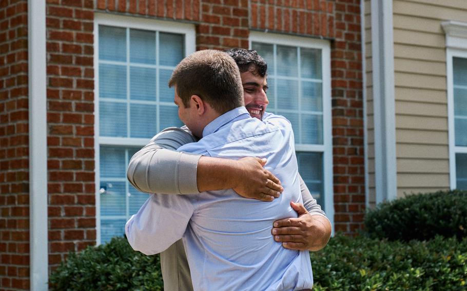
{"type": "Polygon", "coordinates": [[[123,215],[126,217],[125,182],[101,181],[101,215],[123,215]]]}

